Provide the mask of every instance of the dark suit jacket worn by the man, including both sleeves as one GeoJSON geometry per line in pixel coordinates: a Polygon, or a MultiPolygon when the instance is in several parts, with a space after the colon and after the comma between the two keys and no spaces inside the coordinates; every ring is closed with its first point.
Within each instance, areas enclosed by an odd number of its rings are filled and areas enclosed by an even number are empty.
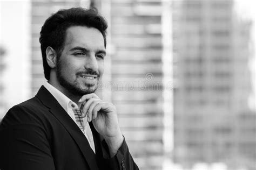
{"type": "Polygon", "coordinates": [[[0,125],[0,169],[138,169],[125,143],[113,158],[90,123],[96,154],[76,123],[41,87],[12,107],[0,125]]]}

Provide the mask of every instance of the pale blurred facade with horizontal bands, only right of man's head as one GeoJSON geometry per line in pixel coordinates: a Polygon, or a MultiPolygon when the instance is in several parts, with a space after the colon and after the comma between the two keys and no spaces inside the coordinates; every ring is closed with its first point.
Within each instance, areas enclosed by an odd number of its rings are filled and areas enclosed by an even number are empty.
{"type": "Polygon", "coordinates": [[[111,1],[112,102],[140,169],[163,164],[161,9],[160,0],[111,1]]]}

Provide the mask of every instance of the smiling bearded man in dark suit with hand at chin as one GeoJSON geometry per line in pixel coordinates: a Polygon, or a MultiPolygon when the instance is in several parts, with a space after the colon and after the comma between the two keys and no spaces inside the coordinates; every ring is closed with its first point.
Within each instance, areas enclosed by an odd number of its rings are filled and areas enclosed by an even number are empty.
{"type": "Polygon", "coordinates": [[[96,10],[49,17],[39,41],[45,82],[0,126],[0,169],[138,169],[117,111],[94,93],[103,75],[107,24],[96,10]]]}

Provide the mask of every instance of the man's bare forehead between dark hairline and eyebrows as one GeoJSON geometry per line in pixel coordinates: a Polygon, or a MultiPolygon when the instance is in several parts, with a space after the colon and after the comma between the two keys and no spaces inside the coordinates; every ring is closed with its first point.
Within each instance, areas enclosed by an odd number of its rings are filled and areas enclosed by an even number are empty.
{"type": "Polygon", "coordinates": [[[66,30],[65,47],[82,46],[91,49],[104,49],[102,33],[86,26],[71,26],[66,30]]]}

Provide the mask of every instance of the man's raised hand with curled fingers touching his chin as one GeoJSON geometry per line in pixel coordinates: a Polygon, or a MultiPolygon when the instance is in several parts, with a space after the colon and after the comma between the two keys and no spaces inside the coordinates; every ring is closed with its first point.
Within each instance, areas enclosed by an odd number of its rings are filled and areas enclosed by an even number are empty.
{"type": "Polygon", "coordinates": [[[84,105],[81,108],[82,117],[87,115],[87,121],[92,121],[97,132],[104,137],[112,157],[124,140],[118,124],[116,107],[112,103],[100,100],[95,93],[82,96],[79,103],[84,105]]]}

